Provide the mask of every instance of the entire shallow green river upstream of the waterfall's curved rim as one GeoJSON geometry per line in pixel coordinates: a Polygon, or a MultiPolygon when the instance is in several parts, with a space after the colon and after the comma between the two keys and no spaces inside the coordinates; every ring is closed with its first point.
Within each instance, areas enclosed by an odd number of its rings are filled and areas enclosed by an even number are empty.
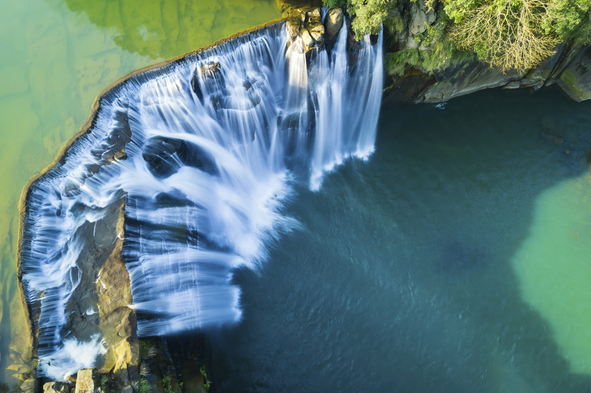
{"type": "Polygon", "coordinates": [[[0,4],[0,379],[30,368],[17,290],[17,202],[126,73],[281,16],[274,0],[59,1],[0,4]],[[29,364],[27,364],[29,362],[29,364]]]}

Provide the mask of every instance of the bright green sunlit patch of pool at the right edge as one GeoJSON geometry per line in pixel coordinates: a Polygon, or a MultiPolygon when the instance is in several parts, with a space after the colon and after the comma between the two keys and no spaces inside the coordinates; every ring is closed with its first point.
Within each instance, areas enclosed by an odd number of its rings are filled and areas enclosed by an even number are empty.
{"type": "Polygon", "coordinates": [[[540,195],[512,264],[522,298],[550,325],[571,372],[591,374],[591,175],[540,195]]]}

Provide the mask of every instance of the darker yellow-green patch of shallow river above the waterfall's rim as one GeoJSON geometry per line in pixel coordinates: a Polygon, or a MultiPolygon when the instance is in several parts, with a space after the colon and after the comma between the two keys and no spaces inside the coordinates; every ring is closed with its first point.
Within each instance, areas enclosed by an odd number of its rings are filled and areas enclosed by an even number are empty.
{"type": "Polygon", "coordinates": [[[281,17],[274,0],[65,0],[112,40],[151,60],[170,58],[281,17]]]}

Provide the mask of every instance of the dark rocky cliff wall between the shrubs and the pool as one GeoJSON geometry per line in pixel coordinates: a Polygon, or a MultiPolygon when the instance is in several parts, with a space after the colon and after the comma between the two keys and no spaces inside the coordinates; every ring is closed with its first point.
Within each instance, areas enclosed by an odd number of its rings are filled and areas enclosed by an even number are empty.
{"type": "MultiPolygon", "coordinates": [[[[424,58],[432,57],[437,42],[444,37],[441,34],[431,37],[426,33],[437,32],[442,27],[442,9],[443,4],[437,0],[432,7],[424,0],[401,1],[393,12],[396,31],[389,34],[387,51],[401,54],[419,50],[426,54],[424,58]]],[[[505,73],[480,62],[475,55],[470,56],[472,60],[461,60],[437,70],[430,70],[426,63],[414,64],[402,75],[385,81],[383,104],[441,103],[482,89],[531,87],[537,90],[553,84],[575,101],[591,98],[591,73],[587,73],[591,68],[591,46],[570,40],[558,44],[554,51],[535,68],[505,73]]]]}

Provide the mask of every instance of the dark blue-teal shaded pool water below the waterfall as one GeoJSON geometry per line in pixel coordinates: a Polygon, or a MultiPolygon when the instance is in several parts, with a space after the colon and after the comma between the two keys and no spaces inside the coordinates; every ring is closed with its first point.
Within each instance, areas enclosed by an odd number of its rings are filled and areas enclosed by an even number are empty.
{"type": "Polygon", "coordinates": [[[215,391],[591,391],[510,262],[535,199],[588,170],[591,104],[489,90],[380,116],[371,159],[301,186],[303,229],[236,272],[243,319],[210,331],[215,391]]]}

